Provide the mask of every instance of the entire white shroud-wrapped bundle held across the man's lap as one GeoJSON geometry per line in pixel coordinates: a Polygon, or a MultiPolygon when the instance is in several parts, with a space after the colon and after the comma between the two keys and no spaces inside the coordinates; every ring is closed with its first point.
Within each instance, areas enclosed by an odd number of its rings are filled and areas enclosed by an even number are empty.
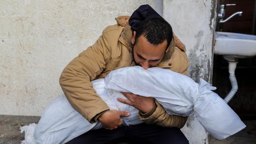
{"type": "MultiPolygon", "coordinates": [[[[229,137],[245,128],[237,114],[211,90],[216,89],[203,79],[200,84],[191,78],[162,68],[140,66],[120,68],[112,71],[105,79],[92,81],[97,94],[110,109],[129,111],[122,118],[126,125],[140,124],[138,110],[118,102],[121,92],[132,92],[141,96],[154,97],[169,114],[189,116],[195,113],[198,121],[208,133],[217,139],[229,137]]],[[[54,100],[43,112],[39,124],[32,132],[34,139],[25,144],[64,144],[90,129],[99,129],[101,124],[90,124],[75,111],[64,95],[54,100]]],[[[26,135],[26,131],[25,131],[26,135]]]]}

